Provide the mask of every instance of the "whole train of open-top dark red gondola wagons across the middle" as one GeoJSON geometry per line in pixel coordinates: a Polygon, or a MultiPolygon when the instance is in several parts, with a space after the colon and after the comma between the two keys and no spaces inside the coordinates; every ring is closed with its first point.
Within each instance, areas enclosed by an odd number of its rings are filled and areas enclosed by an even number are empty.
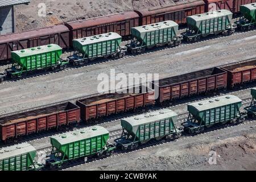
{"type": "Polygon", "coordinates": [[[94,123],[109,116],[165,106],[183,98],[217,94],[256,81],[256,58],[220,67],[152,81],[148,86],[133,86],[122,92],[98,93],[0,115],[0,137],[3,142],[51,129],[66,129],[77,123],[94,123]],[[155,98],[155,93],[159,96],[155,98]],[[154,98],[154,99],[152,99],[154,98]]]}

